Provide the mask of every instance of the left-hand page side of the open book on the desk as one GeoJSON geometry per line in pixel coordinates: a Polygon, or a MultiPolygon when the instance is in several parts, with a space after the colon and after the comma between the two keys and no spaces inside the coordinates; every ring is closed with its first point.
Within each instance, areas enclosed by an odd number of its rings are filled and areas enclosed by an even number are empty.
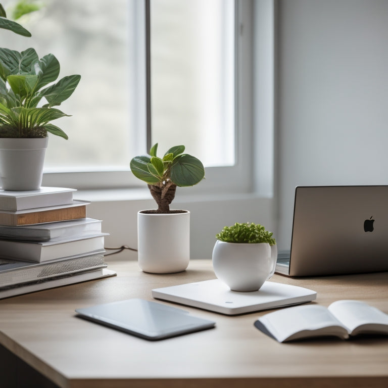
{"type": "Polygon", "coordinates": [[[347,330],[341,322],[325,307],[319,305],[281,309],[262,316],[258,321],[279,342],[318,335],[347,337],[347,330]]]}

